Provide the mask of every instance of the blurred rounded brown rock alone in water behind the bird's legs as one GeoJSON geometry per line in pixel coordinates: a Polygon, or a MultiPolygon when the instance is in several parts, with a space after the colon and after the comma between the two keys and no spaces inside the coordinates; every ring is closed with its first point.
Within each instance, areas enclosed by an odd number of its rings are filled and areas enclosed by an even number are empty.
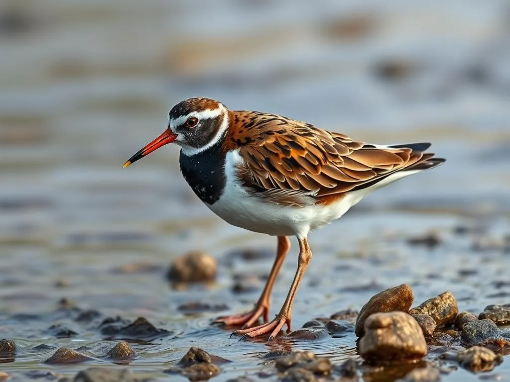
{"type": "Polygon", "coordinates": [[[211,282],[216,279],[216,260],[205,252],[189,252],[177,258],[167,272],[174,283],[211,282]]]}

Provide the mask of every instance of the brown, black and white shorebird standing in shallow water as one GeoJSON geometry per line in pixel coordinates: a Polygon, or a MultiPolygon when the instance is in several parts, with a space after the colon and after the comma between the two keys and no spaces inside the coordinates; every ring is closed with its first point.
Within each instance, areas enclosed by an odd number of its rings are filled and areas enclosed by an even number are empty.
{"type": "Polygon", "coordinates": [[[168,127],[124,163],[181,146],[182,175],[198,198],[231,225],[277,237],[271,272],[248,312],[215,323],[242,326],[233,335],[274,339],[287,325],[311,259],[308,235],[346,213],[374,190],[441,165],[430,143],[374,145],[311,123],[253,111],[233,111],[210,98],[189,98],[168,113],[168,127]],[[299,243],[296,274],[282,308],[269,321],[270,294],[290,249],[299,243]],[[264,322],[259,323],[260,318],[264,322]]]}

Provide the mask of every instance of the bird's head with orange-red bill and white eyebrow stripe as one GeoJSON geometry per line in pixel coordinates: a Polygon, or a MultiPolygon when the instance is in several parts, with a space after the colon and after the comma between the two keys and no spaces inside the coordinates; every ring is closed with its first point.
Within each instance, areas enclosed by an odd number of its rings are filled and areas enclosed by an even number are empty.
{"type": "Polygon", "coordinates": [[[168,128],[163,134],[133,155],[123,167],[171,142],[182,146],[185,155],[197,154],[217,143],[227,127],[228,110],[221,102],[209,98],[186,99],[168,113],[168,128]]]}

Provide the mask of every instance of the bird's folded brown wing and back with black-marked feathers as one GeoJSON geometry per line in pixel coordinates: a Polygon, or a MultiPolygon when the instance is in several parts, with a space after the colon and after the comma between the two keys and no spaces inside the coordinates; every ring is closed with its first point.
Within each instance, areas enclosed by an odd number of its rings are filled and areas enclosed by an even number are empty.
{"type": "MultiPolygon", "coordinates": [[[[411,148],[379,148],[311,124],[257,112],[232,112],[225,144],[239,148],[244,185],[283,204],[315,202],[363,188],[433,154],[411,148]]],[[[306,203],[305,203],[306,204],[306,203]]]]}

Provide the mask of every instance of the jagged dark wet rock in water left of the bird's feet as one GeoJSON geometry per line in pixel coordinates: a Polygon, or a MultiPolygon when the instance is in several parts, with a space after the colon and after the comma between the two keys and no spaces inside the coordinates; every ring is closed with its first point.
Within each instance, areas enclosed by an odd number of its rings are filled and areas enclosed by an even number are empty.
{"type": "Polygon", "coordinates": [[[143,317],[137,318],[135,321],[126,326],[121,326],[123,320],[114,321],[111,324],[101,323],[101,334],[105,339],[112,340],[140,340],[152,341],[159,337],[172,334],[165,329],[158,329],[143,317]]]}

